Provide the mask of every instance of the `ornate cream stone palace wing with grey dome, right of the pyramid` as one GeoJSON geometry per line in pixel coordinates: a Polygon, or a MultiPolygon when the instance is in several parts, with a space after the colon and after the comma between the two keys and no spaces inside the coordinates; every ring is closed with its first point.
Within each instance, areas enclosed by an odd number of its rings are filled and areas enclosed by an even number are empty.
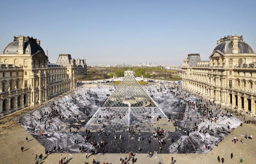
{"type": "Polygon", "coordinates": [[[227,36],[217,40],[209,61],[183,59],[182,86],[215,100],[222,107],[256,111],[256,54],[243,36],[227,36]]]}

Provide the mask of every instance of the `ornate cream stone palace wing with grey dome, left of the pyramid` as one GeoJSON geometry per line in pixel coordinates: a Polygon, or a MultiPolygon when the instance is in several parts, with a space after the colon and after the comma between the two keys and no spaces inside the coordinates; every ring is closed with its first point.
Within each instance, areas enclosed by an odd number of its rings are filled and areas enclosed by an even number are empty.
{"type": "Polygon", "coordinates": [[[77,87],[76,60],[70,57],[65,65],[49,63],[40,40],[33,37],[14,36],[0,54],[0,66],[3,115],[77,87]]]}

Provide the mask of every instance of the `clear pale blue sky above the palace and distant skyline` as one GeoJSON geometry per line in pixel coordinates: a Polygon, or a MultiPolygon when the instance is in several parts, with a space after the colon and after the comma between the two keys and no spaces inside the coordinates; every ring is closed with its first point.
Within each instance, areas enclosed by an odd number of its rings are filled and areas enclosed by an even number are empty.
{"type": "MultiPolygon", "coordinates": [[[[243,35],[256,48],[256,1],[1,1],[0,50],[23,34],[92,63],[181,64],[208,60],[220,37],[243,35]]],[[[256,49],[255,49],[256,51],[256,49]]]]}

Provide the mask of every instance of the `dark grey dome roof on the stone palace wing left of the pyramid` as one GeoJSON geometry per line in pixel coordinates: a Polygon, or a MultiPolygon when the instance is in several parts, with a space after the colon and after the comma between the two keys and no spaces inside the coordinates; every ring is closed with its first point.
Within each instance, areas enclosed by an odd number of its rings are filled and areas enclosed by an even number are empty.
{"type": "MultiPolygon", "coordinates": [[[[11,42],[6,46],[5,50],[3,51],[3,54],[18,54],[18,46],[19,46],[18,40],[11,42]]],[[[39,46],[36,42],[30,41],[30,40],[24,43],[24,49],[25,49],[25,54],[34,54],[37,51],[42,51],[42,53],[44,53],[44,50],[42,49],[41,46],[39,46]]]]}

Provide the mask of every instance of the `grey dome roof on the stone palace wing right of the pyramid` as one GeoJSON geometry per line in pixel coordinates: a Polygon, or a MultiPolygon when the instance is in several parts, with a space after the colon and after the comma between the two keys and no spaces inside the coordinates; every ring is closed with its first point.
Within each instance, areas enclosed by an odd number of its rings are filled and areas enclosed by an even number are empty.
{"type": "MultiPolygon", "coordinates": [[[[218,44],[213,51],[219,50],[222,53],[232,53],[232,41],[224,41],[218,44]]],[[[251,45],[248,43],[238,40],[238,53],[254,53],[251,45]]]]}

